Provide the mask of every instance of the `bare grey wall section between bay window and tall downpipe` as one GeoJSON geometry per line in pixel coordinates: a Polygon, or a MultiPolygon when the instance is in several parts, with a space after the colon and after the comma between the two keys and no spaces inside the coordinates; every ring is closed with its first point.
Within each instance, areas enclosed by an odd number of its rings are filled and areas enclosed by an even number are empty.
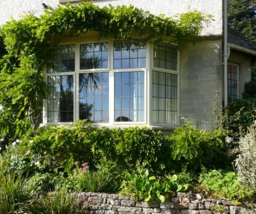
{"type": "Polygon", "coordinates": [[[222,103],[222,40],[199,40],[180,54],[181,114],[200,129],[214,128],[216,91],[222,103]]]}

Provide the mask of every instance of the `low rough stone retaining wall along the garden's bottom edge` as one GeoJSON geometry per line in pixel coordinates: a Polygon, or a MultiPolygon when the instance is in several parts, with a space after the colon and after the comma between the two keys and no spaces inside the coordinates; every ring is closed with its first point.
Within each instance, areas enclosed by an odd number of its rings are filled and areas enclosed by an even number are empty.
{"type": "Polygon", "coordinates": [[[178,193],[177,197],[170,198],[168,202],[154,202],[151,205],[143,201],[134,201],[130,196],[119,194],[83,192],[77,194],[79,207],[89,204],[85,213],[116,214],[116,213],[146,213],[146,214],[210,214],[230,213],[247,214],[256,213],[245,207],[235,206],[227,199],[205,199],[201,194],[178,193]]]}

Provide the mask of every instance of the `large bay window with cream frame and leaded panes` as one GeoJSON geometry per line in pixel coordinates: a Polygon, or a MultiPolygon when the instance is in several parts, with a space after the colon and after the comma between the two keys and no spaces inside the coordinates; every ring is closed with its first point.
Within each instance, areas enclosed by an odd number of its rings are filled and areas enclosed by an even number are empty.
{"type": "Polygon", "coordinates": [[[44,123],[88,119],[106,125],[175,126],[178,61],[177,46],[164,42],[126,39],[58,45],[46,72],[44,123]]]}

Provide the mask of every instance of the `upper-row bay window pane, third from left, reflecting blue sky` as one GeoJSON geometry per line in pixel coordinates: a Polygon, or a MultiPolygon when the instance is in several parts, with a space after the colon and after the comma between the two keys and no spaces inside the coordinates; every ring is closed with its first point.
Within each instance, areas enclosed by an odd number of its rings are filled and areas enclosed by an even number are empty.
{"type": "Polygon", "coordinates": [[[136,67],[146,67],[146,43],[139,40],[114,41],[114,68],[136,67]]]}

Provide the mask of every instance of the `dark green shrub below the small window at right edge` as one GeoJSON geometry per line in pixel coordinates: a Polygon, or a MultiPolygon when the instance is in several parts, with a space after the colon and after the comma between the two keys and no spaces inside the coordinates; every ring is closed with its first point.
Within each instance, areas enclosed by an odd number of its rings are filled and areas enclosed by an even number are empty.
{"type": "Polygon", "coordinates": [[[228,130],[235,139],[246,132],[254,121],[256,114],[256,99],[232,100],[224,111],[223,128],[228,130]]]}

